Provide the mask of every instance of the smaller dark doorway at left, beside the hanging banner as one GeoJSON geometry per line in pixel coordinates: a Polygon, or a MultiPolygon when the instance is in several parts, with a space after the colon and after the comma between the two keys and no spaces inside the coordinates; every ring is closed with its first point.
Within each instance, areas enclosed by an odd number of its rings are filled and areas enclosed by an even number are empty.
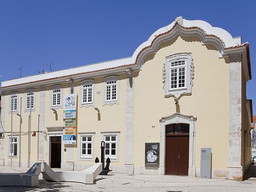
{"type": "Polygon", "coordinates": [[[51,168],[60,168],[61,136],[51,137],[51,168]]]}

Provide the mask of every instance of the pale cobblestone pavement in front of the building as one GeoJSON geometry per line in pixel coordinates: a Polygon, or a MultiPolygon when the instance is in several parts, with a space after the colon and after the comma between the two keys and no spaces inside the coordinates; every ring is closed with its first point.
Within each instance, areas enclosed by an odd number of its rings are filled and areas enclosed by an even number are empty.
{"type": "MultiPolygon", "coordinates": [[[[26,172],[28,168],[0,166],[0,172],[26,172]]],[[[9,192],[256,192],[256,165],[252,165],[247,180],[233,181],[225,179],[200,179],[170,175],[127,175],[109,173],[99,175],[94,184],[75,182],[45,181],[39,175],[36,187],[0,186],[0,191],[9,192]],[[251,175],[253,177],[251,177],[251,175]]]]}

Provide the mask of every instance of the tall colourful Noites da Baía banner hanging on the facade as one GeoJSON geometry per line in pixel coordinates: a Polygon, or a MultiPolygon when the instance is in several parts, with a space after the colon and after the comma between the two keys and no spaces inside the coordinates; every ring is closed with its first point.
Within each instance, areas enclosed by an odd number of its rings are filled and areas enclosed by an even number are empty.
{"type": "Polygon", "coordinates": [[[77,96],[69,94],[64,96],[63,111],[63,144],[76,144],[77,132],[77,96]]]}

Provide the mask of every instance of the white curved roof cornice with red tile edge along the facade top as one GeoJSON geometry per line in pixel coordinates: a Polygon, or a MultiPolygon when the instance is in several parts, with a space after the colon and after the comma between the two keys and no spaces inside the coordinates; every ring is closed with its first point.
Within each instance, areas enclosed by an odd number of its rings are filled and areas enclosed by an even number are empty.
{"type": "Polygon", "coordinates": [[[142,43],[135,50],[132,57],[2,81],[0,90],[3,92],[12,91],[25,87],[63,83],[67,79],[76,81],[85,78],[108,76],[125,73],[127,69],[132,71],[140,70],[143,60],[148,54],[156,52],[159,44],[172,39],[178,34],[182,36],[198,36],[202,44],[214,44],[219,51],[220,58],[228,57],[231,54],[241,54],[244,51],[244,44],[241,43],[240,37],[233,38],[224,29],[212,27],[202,20],[185,20],[182,17],[178,17],[170,25],[153,33],[148,41],[142,43]]]}

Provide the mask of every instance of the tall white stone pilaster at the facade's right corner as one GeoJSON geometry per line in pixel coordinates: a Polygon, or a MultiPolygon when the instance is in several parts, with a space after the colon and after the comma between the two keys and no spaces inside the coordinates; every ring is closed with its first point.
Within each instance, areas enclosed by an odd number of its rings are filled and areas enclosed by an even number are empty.
{"type": "Polygon", "coordinates": [[[243,180],[241,166],[242,58],[229,57],[229,148],[226,178],[243,180]]]}

